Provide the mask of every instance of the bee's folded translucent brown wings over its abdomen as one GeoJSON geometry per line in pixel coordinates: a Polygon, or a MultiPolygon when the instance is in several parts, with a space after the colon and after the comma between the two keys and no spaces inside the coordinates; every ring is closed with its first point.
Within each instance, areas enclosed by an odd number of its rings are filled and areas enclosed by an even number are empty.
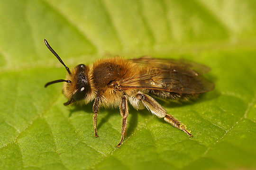
{"type": "Polygon", "coordinates": [[[142,57],[132,59],[140,65],[138,75],[120,81],[121,89],[149,89],[174,93],[204,93],[214,84],[202,76],[210,70],[203,65],[185,61],[142,57]]]}

